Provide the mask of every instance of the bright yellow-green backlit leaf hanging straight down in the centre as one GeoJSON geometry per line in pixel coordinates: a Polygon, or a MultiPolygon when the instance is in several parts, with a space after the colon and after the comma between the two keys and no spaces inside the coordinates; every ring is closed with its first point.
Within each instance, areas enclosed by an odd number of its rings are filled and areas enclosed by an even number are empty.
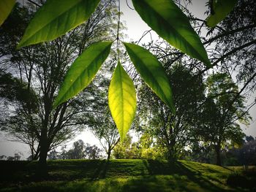
{"type": "Polygon", "coordinates": [[[108,91],[108,104],[121,141],[132,125],[136,112],[135,86],[120,62],[116,66],[108,91]]]}

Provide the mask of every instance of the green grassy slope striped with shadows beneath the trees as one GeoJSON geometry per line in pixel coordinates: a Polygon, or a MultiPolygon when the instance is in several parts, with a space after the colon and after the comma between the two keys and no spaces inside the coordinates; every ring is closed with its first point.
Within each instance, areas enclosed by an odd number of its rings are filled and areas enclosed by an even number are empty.
{"type": "Polygon", "coordinates": [[[226,185],[230,169],[192,161],[49,161],[49,179],[34,181],[36,162],[1,161],[0,191],[246,191],[226,185]]]}

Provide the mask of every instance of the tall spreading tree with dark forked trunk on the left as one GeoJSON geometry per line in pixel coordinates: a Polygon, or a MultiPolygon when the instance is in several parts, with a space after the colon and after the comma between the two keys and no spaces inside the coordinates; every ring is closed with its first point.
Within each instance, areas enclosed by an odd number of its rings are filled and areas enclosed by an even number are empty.
{"type": "MultiPolygon", "coordinates": [[[[112,38],[112,31],[116,28],[113,25],[115,13],[115,1],[102,1],[86,23],[68,34],[51,42],[20,50],[16,50],[16,46],[28,20],[34,14],[32,9],[15,7],[12,15],[0,28],[1,63],[7,66],[14,76],[20,78],[21,82],[26,82],[26,89],[33,91],[37,96],[36,101],[28,99],[29,104],[10,102],[7,107],[12,110],[9,113],[10,119],[18,117],[19,123],[31,125],[30,130],[34,133],[33,158],[39,158],[42,174],[46,173],[48,151],[82,128],[79,121],[81,114],[89,116],[94,112],[94,106],[97,105],[95,94],[91,92],[94,85],[78,96],[86,96],[83,99],[66,101],[56,109],[53,109],[53,101],[69,65],[83,49],[95,41],[112,38]],[[31,107],[27,106],[36,106],[37,110],[32,111],[31,107]]],[[[6,126],[12,123],[10,119],[5,121],[6,126]]],[[[5,130],[11,132],[14,127],[16,131],[23,133],[26,130],[21,128],[19,123],[12,123],[12,126],[5,130]]]]}

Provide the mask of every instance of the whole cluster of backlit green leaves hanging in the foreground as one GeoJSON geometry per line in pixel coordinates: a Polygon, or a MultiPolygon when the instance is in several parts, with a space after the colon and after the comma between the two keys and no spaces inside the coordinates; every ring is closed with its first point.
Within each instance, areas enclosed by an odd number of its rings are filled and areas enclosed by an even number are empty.
{"type": "MultiPolygon", "coordinates": [[[[26,28],[18,48],[50,41],[66,34],[84,23],[95,11],[100,0],[48,0],[40,7],[26,28]]],[[[227,0],[224,0],[227,1],[227,0]]],[[[140,17],[170,45],[211,67],[200,37],[187,16],[171,0],[132,0],[140,17]]],[[[14,0],[0,0],[0,25],[9,15],[14,0]],[[3,8],[2,8],[3,7],[3,8]]],[[[217,21],[223,18],[219,4],[214,4],[217,21]]],[[[227,7],[225,8],[227,9],[227,7]]],[[[225,14],[229,10],[225,11],[225,14]]],[[[215,17],[215,16],[214,16],[215,17]]],[[[212,23],[208,18],[208,23],[212,23]]],[[[214,24],[211,24],[213,26],[214,24]]],[[[118,39],[117,39],[118,40],[118,39]]],[[[110,53],[113,42],[97,42],[83,51],[67,72],[56,96],[54,107],[76,96],[94,79],[100,66],[110,53]]],[[[173,113],[176,112],[167,74],[157,58],[139,45],[123,42],[129,58],[140,76],[173,113]]],[[[124,139],[136,112],[135,86],[120,61],[113,72],[108,93],[108,103],[121,140],[124,139]]]]}

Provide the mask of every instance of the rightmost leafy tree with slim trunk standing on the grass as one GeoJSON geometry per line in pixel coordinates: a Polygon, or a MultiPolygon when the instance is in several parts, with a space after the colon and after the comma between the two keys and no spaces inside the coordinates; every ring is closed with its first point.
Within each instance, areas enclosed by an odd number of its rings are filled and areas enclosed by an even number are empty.
{"type": "Polygon", "coordinates": [[[248,123],[244,97],[238,96],[238,86],[228,74],[212,74],[206,81],[207,98],[198,116],[197,135],[214,146],[216,163],[221,165],[221,150],[226,142],[241,143],[245,136],[236,120],[248,123]],[[241,116],[241,114],[246,114],[241,116]]]}

